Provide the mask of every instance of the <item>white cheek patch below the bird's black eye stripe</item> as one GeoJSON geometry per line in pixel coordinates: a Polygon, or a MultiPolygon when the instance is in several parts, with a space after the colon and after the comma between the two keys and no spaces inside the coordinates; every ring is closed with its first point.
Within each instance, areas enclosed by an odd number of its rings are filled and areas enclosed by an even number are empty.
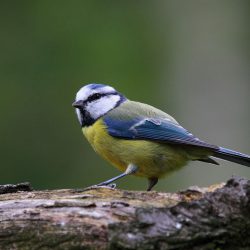
{"type": "Polygon", "coordinates": [[[96,101],[90,102],[86,106],[86,110],[91,114],[93,119],[98,119],[111,109],[115,108],[119,100],[119,95],[104,96],[96,101]]]}

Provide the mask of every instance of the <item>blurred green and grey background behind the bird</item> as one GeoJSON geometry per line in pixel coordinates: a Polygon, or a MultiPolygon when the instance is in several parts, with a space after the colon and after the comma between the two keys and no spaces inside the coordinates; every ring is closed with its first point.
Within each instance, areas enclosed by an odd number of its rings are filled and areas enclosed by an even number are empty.
{"type": "MultiPolygon", "coordinates": [[[[0,183],[85,187],[119,174],[83,138],[71,106],[111,84],[210,143],[250,154],[249,1],[1,1],[0,183]]],[[[192,162],[156,190],[250,169],[192,162]]],[[[128,177],[120,188],[143,190],[128,177]]]]}

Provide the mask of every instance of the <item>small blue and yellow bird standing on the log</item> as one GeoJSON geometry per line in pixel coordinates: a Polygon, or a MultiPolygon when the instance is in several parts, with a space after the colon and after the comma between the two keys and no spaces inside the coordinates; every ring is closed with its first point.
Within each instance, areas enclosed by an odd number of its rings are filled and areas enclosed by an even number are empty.
{"type": "Polygon", "coordinates": [[[96,186],[135,175],[148,179],[150,191],[160,178],[190,161],[219,165],[214,158],[250,167],[249,155],[200,140],[172,116],[131,101],[112,86],[84,85],[72,106],[93,149],[122,172],[96,186]]]}

